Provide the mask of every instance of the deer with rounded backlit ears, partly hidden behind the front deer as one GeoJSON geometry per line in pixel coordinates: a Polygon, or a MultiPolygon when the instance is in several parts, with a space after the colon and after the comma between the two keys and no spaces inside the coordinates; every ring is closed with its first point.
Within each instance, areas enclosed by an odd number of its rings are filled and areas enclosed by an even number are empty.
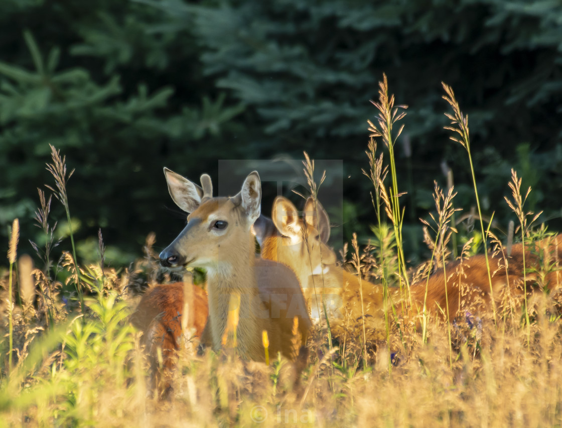
{"type": "Polygon", "coordinates": [[[301,219],[287,198],[278,196],[272,219],[261,216],[253,232],[261,245],[261,256],[293,269],[301,281],[311,318],[324,318],[324,307],[332,332],[365,330],[368,340],[384,337],[383,289],[336,265],[336,253],[327,245],[330,236],[328,214],[320,202],[309,198],[301,219]]]}

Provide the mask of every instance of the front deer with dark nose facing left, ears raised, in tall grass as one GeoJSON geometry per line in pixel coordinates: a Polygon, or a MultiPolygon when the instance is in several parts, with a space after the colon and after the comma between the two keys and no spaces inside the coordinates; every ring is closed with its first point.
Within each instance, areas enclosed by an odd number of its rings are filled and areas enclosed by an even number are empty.
{"type": "Polygon", "coordinates": [[[252,172],[233,197],[212,197],[211,178],[201,184],[164,168],[168,190],[188,215],[187,226],[160,254],[166,267],[201,267],[207,271],[209,318],[201,341],[219,350],[229,310],[238,313],[236,350],[244,358],[265,361],[262,331],[269,337],[269,355],[289,360],[306,354],[310,327],[300,283],[291,269],[256,258],[250,228],[260,215],[261,183],[252,172]],[[238,300],[239,299],[239,300],[238,300]],[[239,301],[232,307],[232,301],[239,301]],[[298,320],[298,330],[294,318],[298,320]]]}

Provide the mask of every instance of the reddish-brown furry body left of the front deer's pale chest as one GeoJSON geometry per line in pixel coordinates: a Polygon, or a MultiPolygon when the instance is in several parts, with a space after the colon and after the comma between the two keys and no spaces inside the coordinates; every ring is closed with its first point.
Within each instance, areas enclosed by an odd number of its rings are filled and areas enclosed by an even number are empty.
{"type": "Polygon", "coordinates": [[[182,335],[184,287],[193,296],[193,303],[188,306],[192,323],[188,322],[187,327],[193,326],[194,336],[201,337],[209,314],[207,293],[193,284],[175,282],[153,287],[140,299],[130,318],[132,324],[143,332],[142,343],[149,355],[153,386],[157,385],[165,392],[170,384],[167,380],[162,382],[161,377],[166,377],[175,367],[175,353],[182,335]],[[162,372],[159,370],[158,349],[162,355],[162,372]]]}

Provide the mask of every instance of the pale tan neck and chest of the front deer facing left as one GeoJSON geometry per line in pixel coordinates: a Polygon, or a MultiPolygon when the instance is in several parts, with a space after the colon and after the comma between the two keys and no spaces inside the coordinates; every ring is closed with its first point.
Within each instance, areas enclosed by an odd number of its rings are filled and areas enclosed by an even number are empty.
{"type": "Polygon", "coordinates": [[[253,235],[248,233],[248,239],[225,254],[220,265],[207,269],[209,322],[215,350],[221,348],[228,313],[236,305],[238,296],[237,350],[241,355],[248,355],[254,341],[259,339],[261,343],[261,335],[257,331],[256,304],[259,305],[259,302],[256,300],[259,291],[254,265],[253,235]]]}

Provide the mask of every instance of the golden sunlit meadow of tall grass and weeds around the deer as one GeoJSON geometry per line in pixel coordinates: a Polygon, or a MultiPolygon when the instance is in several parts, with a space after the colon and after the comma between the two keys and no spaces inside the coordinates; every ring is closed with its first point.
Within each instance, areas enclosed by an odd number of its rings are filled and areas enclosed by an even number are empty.
{"type": "MultiPolygon", "coordinates": [[[[450,105],[446,129],[452,144],[466,151],[474,178],[468,118],[452,89],[443,89],[450,105]]],[[[100,232],[98,263],[81,264],[72,233],[70,243],[57,241],[57,219],[49,217],[51,204],[62,204],[71,224],[66,186],[72,172],[52,147],[53,182],[40,192],[35,213],[45,235],[33,244],[42,264],[33,268],[29,256],[18,256],[18,241],[27,237],[19,236],[15,220],[7,263],[0,268],[0,426],[562,425],[561,287],[545,281],[559,269],[556,257],[537,254],[540,268],[523,269],[524,280],[513,285],[524,288],[519,298],[467,306],[462,317],[422,310],[419,322],[402,321],[398,301],[390,298],[400,295],[400,304],[411,304],[411,283],[424,281],[452,259],[468,260],[470,270],[470,257],[478,252],[491,257],[505,249],[507,254],[512,241],[530,245],[547,236],[545,226],[536,224],[538,214],[525,210],[529,192],[513,171],[505,184],[511,196],[498,203],[507,203],[518,222],[504,226],[509,230],[504,238],[480,215],[474,179],[475,226],[462,236],[455,228],[454,186],[443,190],[436,183],[436,207],[425,233],[432,256],[419,267],[409,266],[393,151],[406,107],[395,106],[386,77],[375,107],[378,120],[370,123],[366,146],[370,168],[362,173],[373,184],[379,233],[365,249],[353,240],[342,263],[382,285],[383,339],[368,350],[364,331],[349,331],[336,343],[328,325],[313,327],[298,389],[289,381],[290,364],[277,356],[266,366],[243,361],[235,349],[197,353],[197,339],[184,340],[173,391],[162,399],[149,388],[142,332],[129,322],[142,290],[166,276],[158,267],[155,238],[147,237],[144,257],[134,265],[115,269],[106,260],[100,232]],[[531,282],[532,294],[526,292],[531,282]]],[[[308,157],[304,168],[316,197],[321,172],[308,157]]],[[[269,215],[268,210],[262,206],[269,215]]],[[[482,271],[483,281],[492,273],[482,271]]]]}

